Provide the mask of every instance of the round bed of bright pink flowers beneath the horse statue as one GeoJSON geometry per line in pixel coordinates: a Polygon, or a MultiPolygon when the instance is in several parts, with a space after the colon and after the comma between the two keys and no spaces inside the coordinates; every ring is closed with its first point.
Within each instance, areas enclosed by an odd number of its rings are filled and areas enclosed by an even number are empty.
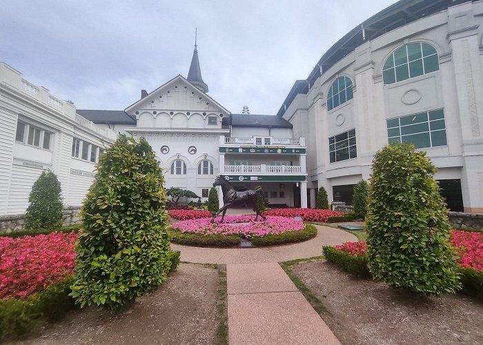
{"type": "MultiPolygon", "coordinates": [[[[220,221],[217,217],[216,221],[220,221]]],[[[287,231],[304,229],[304,222],[287,217],[267,216],[266,221],[254,221],[255,216],[226,216],[224,223],[210,223],[210,218],[190,219],[173,224],[173,228],[182,233],[197,233],[201,235],[243,235],[264,237],[269,234],[277,235],[287,231]],[[237,224],[242,223],[242,224],[237,224]],[[246,223],[246,224],[245,224],[246,223]]],[[[259,218],[260,219],[260,218],[259,218]]]]}

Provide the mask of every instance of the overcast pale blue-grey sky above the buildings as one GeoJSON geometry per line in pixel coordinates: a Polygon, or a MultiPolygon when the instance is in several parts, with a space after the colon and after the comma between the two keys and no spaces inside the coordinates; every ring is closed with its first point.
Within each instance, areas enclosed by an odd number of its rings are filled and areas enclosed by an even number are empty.
{"type": "Polygon", "coordinates": [[[275,114],[333,43],[395,0],[0,0],[0,61],[78,109],[122,110],[188,75],[195,28],[208,95],[275,114]]]}

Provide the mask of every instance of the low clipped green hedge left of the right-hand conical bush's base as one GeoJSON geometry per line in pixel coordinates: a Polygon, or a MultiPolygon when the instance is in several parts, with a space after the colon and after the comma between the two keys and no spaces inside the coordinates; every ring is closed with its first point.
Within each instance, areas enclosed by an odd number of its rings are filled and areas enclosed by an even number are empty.
{"type": "Polygon", "coordinates": [[[367,254],[359,254],[355,257],[343,250],[335,249],[333,246],[322,247],[324,257],[331,264],[342,268],[346,272],[353,273],[360,278],[371,278],[367,266],[367,254]]]}

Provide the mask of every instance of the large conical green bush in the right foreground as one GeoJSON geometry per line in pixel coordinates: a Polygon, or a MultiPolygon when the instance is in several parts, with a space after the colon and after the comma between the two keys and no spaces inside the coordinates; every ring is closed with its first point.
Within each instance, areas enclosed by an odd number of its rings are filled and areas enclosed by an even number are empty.
{"type": "Polygon", "coordinates": [[[454,293],[459,282],[435,171],[426,152],[412,145],[388,145],[377,152],[366,231],[368,265],[375,279],[440,295],[454,293]]]}

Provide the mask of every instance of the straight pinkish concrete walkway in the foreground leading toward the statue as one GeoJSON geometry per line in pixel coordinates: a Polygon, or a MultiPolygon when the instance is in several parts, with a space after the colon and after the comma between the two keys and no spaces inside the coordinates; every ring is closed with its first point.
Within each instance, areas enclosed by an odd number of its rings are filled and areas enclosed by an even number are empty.
{"type": "Polygon", "coordinates": [[[226,271],[230,345],[340,344],[276,262],[226,271]]]}

